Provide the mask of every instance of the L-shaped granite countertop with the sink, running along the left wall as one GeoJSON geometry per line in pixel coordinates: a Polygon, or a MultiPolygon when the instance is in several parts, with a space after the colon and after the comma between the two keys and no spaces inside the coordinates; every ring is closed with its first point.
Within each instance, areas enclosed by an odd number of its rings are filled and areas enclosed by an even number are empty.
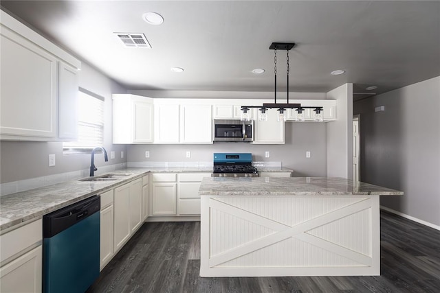
{"type": "MultiPolygon", "coordinates": [[[[209,172],[212,167],[153,167],[127,168],[109,172],[109,174],[129,174],[118,176],[111,181],[78,181],[72,180],[46,187],[40,187],[17,194],[0,197],[0,231],[28,220],[41,218],[43,215],[67,207],[69,204],[89,198],[95,194],[112,189],[144,174],[151,173],[192,173],[209,172]]],[[[99,177],[97,175],[96,177],[99,177]]]]}

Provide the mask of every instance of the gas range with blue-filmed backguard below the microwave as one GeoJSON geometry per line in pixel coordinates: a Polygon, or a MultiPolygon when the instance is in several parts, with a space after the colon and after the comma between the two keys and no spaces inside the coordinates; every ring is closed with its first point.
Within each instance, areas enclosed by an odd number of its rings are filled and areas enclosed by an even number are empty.
{"type": "Polygon", "coordinates": [[[212,177],[258,177],[251,153],[214,153],[212,177]]]}

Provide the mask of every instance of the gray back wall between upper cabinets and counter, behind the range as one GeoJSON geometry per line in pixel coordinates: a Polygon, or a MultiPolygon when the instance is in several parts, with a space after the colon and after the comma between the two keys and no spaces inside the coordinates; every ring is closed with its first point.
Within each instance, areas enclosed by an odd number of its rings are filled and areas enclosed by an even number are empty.
{"type": "Polygon", "coordinates": [[[294,169],[294,176],[327,176],[326,124],[287,122],[285,133],[284,145],[127,145],[127,161],[209,162],[214,152],[252,152],[254,161],[282,161],[283,167],[294,169]],[[150,152],[149,159],[145,158],[146,150],[150,152]],[[190,159],[186,158],[186,151],[191,152],[190,159]],[[270,151],[270,158],[265,158],[266,151],[270,151]],[[311,152],[311,158],[305,157],[306,151],[311,152]]]}

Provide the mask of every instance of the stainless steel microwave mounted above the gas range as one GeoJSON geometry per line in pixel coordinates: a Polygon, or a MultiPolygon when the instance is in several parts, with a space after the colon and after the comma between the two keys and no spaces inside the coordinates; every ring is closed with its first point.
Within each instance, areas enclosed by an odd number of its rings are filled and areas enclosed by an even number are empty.
{"type": "Polygon", "coordinates": [[[254,121],[214,119],[214,141],[254,141],[254,121]]]}

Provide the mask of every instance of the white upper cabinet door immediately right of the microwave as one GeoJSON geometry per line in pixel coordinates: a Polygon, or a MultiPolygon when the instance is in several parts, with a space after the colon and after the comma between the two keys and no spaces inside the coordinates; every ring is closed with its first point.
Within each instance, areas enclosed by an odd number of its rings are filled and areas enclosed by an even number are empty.
{"type": "Polygon", "coordinates": [[[278,121],[276,108],[266,110],[267,121],[255,121],[254,143],[284,143],[285,122],[278,121]]]}

